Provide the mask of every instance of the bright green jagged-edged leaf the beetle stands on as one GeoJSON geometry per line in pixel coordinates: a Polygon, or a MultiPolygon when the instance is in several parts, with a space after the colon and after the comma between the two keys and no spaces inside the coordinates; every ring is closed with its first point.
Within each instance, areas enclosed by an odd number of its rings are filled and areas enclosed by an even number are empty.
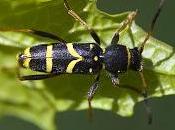
{"type": "MultiPolygon", "coordinates": [[[[96,8],[95,0],[71,0],[70,5],[96,30],[103,48],[110,44],[115,30],[129,13],[106,14],[96,8]]],[[[1,0],[0,16],[0,28],[34,28],[55,33],[68,42],[94,42],[84,27],[67,14],[62,0],[1,0]]],[[[133,48],[144,40],[145,35],[133,22],[131,31],[121,34],[119,44],[133,48]]],[[[20,82],[16,78],[16,54],[25,47],[48,42],[53,40],[19,32],[0,33],[0,115],[18,116],[41,129],[54,130],[56,112],[88,108],[86,95],[94,77],[61,75],[43,81],[20,82]]],[[[149,97],[174,94],[174,48],[150,38],[143,57],[149,97]]],[[[123,116],[132,115],[134,105],[143,97],[135,91],[122,88],[127,85],[141,89],[142,83],[136,72],[129,71],[121,75],[121,87],[114,88],[104,71],[101,87],[92,102],[93,107],[123,116]]]]}

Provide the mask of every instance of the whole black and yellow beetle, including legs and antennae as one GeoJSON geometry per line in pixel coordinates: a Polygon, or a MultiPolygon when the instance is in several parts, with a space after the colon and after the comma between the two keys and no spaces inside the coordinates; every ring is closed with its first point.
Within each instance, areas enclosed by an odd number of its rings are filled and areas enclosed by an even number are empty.
{"type": "MultiPolygon", "coordinates": [[[[139,72],[143,82],[143,92],[145,103],[147,98],[146,82],[143,76],[143,58],[142,52],[146,41],[153,32],[156,20],[161,12],[164,0],[161,0],[157,12],[151,22],[150,31],[145,36],[144,41],[139,47],[132,49],[118,43],[120,32],[130,26],[134,20],[137,11],[131,12],[128,17],[121,23],[121,26],[114,33],[111,44],[104,50],[100,47],[100,38],[97,33],[90,28],[69,6],[64,0],[65,8],[70,16],[83,25],[89,31],[94,43],[67,43],[65,40],[55,36],[54,34],[24,29],[17,30],[20,32],[29,32],[43,37],[49,37],[57,40],[52,44],[41,44],[29,47],[17,56],[20,67],[31,69],[33,71],[45,72],[39,75],[21,76],[20,80],[40,80],[46,79],[60,74],[75,73],[75,74],[92,74],[96,75],[95,81],[90,87],[87,97],[89,108],[91,108],[91,100],[98,88],[100,72],[104,68],[110,75],[114,85],[119,84],[119,75],[126,72],[128,69],[139,72]]],[[[149,119],[151,122],[151,117],[149,119]]]]}

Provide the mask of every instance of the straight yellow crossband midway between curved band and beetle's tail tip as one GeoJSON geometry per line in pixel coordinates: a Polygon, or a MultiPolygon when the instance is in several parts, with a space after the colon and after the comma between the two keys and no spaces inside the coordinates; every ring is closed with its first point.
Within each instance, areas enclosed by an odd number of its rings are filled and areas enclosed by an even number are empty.
{"type": "Polygon", "coordinates": [[[51,72],[52,71],[52,45],[47,46],[47,51],[46,51],[46,72],[51,72]]]}

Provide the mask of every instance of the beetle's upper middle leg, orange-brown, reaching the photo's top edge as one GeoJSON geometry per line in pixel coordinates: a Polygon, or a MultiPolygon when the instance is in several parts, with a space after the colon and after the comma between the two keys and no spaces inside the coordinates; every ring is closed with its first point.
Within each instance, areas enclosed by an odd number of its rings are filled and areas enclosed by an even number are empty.
{"type": "Polygon", "coordinates": [[[77,13],[75,13],[72,10],[72,8],[70,7],[70,5],[67,2],[67,0],[64,0],[64,6],[65,6],[68,14],[70,16],[72,16],[76,21],[78,21],[82,26],[84,26],[86,28],[86,30],[89,31],[89,33],[91,34],[92,38],[100,45],[100,38],[97,35],[97,33],[83,19],[81,19],[81,17],[77,13]]]}

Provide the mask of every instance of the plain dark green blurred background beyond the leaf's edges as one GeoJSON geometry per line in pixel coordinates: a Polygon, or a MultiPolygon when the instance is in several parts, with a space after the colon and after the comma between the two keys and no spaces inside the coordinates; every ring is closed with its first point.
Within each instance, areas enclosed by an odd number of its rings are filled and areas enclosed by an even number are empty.
{"type": "MultiPolygon", "coordinates": [[[[127,10],[139,9],[140,13],[136,23],[148,30],[153,13],[159,0],[98,0],[100,10],[115,14],[127,10]]],[[[154,37],[175,46],[175,1],[167,0],[161,17],[154,31],[154,37]]],[[[133,117],[120,117],[112,112],[101,110],[94,111],[94,120],[89,122],[87,111],[58,113],[56,123],[60,130],[173,130],[175,129],[175,96],[166,96],[150,100],[153,111],[153,124],[147,124],[147,115],[143,103],[135,107],[133,117]]],[[[15,117],[0,119],[0,130],[38,130],[28,122],[15,117]]]]}

